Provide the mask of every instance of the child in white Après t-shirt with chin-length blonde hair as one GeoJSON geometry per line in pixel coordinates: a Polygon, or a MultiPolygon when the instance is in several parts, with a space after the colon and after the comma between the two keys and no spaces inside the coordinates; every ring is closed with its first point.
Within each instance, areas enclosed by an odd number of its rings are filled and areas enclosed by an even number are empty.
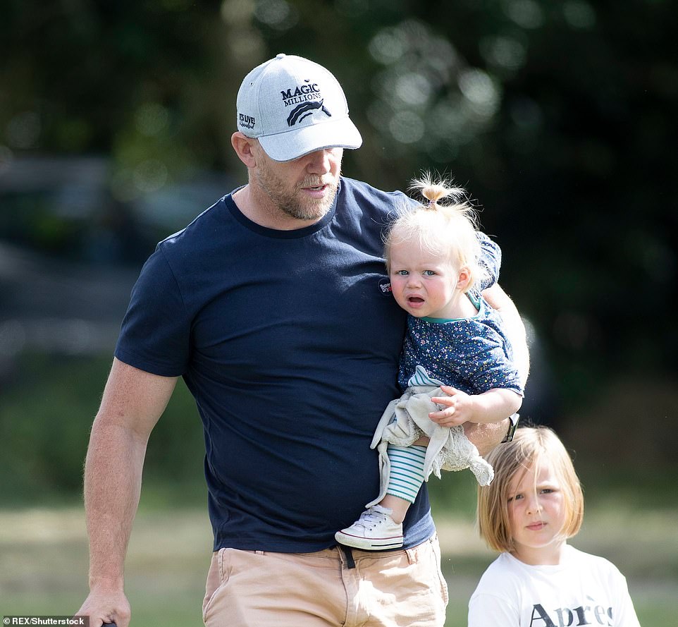
{"type": "Polygon", "coordinates": [[[639,627],[627,582],[610,561],[567,543],[584,518],[572,459],[553,430],[521,427],[488,455],[478,491],[480,535],[500,552],[469,601],[469,627],[639,627]]]}

